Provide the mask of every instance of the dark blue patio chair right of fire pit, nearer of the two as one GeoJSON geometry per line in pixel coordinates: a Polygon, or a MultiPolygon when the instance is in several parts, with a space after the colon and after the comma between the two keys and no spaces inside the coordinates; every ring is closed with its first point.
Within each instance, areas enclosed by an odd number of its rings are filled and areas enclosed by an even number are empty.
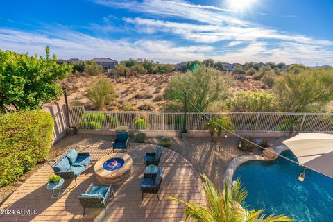
{"type": "Polygon", "coordinates": [[[140,185],[140,189],[142,191],[142,200],[144,200],[144,193],[156,194],[157,199],[160,200],[160,197],[158,196],[158,191],[160,190],[160,186],[163,179],[162,171],[163,171],[162,167],[159,167],[155,178],[151,177],[142,178],[140,185]]]}

